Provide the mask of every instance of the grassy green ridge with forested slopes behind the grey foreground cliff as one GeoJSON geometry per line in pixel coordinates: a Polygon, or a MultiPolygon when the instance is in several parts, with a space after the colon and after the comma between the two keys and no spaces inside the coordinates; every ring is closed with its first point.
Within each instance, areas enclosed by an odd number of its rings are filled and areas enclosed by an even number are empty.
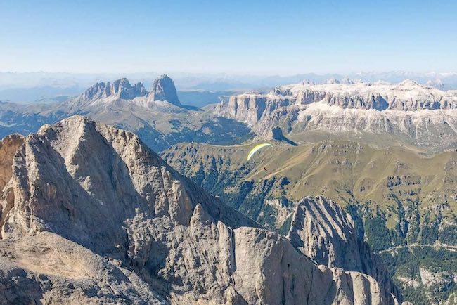
{"type": "MultiPolygon", "coordinates": [[[[166,150],[163,157],[228,205],[292,242],[294,236],[304,236],[303,229],[295,229],[297,214],[304,215],[299,228],[309,228],[316,236],[333,232],[333,238],[341,236],[338,240],[348,242],[331,227],[320,230],[312,221],[302,222],[308,219],[306,215],[314,219],[321,214],[302,198],[330,198],[351,215],[355,235],[379,253],[388,276],[407,300],[440,304],[456,296],[457,270],[449,266],[457,264],[457,152],[426,157],[404,147],[373,148],[352,141],[270,143],[274,148],[257,152],[249,162],[247,153],[254,144],[180,144],[166,150]],[[303,207],[304,203],[308,206],[303,207]]],[[[333,215],[341,214],[334,210],[333,215]]],[[[335,249],[319,252],[319,247],[310,245],[325,242],[302,239],[307,243],[298,245],[299,249],[304,247],[308,256],[330,264],[328,257],[335,249]]],[[[346,254],[356,258],[351,252],[346,254]]],[[[342,259],[344,254],[333,256],[342,259]]],[[[348,268],[344,262],[339,264],[348,268]]]]}

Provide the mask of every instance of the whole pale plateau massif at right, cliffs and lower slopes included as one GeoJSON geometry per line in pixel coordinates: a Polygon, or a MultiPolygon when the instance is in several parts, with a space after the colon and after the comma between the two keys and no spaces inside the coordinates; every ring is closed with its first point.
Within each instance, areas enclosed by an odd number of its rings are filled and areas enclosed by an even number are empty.
{"type": "Polygon", "coordinates": [[[281,86],[267,94],[231,96],[214,106],[214,113],[245,122],[259,138],[279,126],[297,142],[314,141],[313,134],[330,134],[437,151],[457,143],[457,92],[408,80],[281,86]]]}

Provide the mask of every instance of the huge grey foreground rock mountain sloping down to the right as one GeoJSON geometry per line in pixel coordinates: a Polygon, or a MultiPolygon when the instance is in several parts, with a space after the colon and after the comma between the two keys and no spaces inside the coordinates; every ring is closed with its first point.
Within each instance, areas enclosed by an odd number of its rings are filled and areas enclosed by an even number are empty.
{"type": "Polygon", "coordinates": [[[1,196],[0,299],[388,304],[177,174],[139,138],[70,117],[31,134],[1,196]]]}

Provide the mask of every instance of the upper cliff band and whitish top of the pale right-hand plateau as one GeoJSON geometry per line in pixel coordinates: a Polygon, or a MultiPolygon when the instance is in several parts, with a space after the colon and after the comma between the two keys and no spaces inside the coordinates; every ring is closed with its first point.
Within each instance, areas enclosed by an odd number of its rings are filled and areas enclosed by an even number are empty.
{"type": "Polygon", "coordinates": [[[323,103],[342,109],[380,111],[455,109],[457,93],[440,91],[410,80],[399,84],[355,83],[349,80],[340,84],[331,80],[327,84],[304,83],[276,87],[265,95],[243,93],[231,96],[226,107],[219,106],[219,110],[254,125],[279,108],[311,103],[323,103]]]}

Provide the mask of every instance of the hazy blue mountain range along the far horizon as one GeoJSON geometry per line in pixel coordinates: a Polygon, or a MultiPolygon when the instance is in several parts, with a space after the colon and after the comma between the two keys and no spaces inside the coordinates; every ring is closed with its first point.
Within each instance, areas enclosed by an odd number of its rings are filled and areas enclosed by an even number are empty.
{"type": "MultiPolygon", "coordinates": [[[[13,102],[34,102],[35,100],[51,100],[58,96],[75,96],[84,88],[105,79],[120,79],[127,77],[131,81],[141,82],[144,86],[152,85],[153,79],[161,73],[131,73],[131,74],[71,74],[50,72],[0,72],[0,100],[13,102]]],[[[457,73],[416,73],[416,72],[359,72],[349,74],[295,74],[291,76],[258,76],[258,75],[230,75],[230,74],[190,74],[173,73],[178,91],[194,92],[197,97],[195,104],[202,106],[208,103],[217,103],[218,98],[210,101],[207,96],[198,96],[198,92],[210,91],[213,93],[224,91],[247,91],[252,89],[271,89],[274,86],[297,84],[304,80],[323,84],[329,79],[342,81],[343,79],[359,79],[363,82],[391,82],[397,83],[404,79],[412,79],[419,84],[435,86],[438,89],[457,89],[457,73]]],[[[224,95],[221,93],[219,95],[224,95]]],[[[183,99],[184,100],[184,99],[183,99]]]]}

